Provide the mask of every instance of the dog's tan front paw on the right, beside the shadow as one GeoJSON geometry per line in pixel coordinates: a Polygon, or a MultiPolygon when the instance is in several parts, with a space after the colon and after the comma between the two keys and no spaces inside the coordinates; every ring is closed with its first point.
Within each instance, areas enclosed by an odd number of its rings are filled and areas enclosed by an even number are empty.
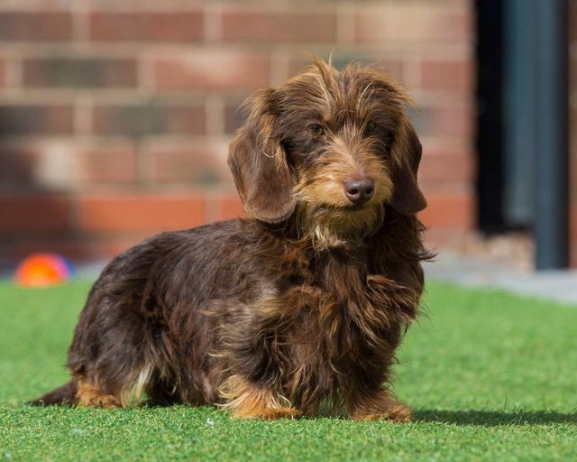
{"type": "Polygon", "coordinates": [[[408,422],[412,412],[407,405],[398,402],[385,388],[359,390],[347,397],[347,407],[355,420],[384,419],[393,422],[408,422]]]}

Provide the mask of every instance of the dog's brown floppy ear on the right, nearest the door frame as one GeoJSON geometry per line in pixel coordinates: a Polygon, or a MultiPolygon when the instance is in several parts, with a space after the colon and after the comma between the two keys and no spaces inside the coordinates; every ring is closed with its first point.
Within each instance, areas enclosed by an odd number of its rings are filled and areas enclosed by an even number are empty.
{"type": "Polygon", "coordinates": [[[423,148],[407,115],[402,115],[391,151],[394,165],[390,205],[400,213],[415,214],[426,208],[426,199],[417,185],[418,164],[421,162],[423,148]]]}

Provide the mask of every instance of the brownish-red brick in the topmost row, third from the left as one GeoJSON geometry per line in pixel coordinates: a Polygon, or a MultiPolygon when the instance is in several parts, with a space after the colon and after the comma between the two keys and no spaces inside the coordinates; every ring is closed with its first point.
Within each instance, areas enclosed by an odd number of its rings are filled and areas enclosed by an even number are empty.
{"type": "Polygon", "coordinates": [[[222,37],[227,41],[333,42],[336,23],[325,11],[266,12],[233,8],[222,15],[222,37]]]}

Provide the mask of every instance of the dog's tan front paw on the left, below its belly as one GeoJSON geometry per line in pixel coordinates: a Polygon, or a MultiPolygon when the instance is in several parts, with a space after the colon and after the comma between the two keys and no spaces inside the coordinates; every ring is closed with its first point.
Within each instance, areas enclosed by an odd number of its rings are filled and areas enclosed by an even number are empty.
{"type": "Polygon", "coordinates": [[[241,375],[232,375],[221,386],[223,408],[243,419],[295,419],[300,412],[280,393],[263,388],[241,375]]]}

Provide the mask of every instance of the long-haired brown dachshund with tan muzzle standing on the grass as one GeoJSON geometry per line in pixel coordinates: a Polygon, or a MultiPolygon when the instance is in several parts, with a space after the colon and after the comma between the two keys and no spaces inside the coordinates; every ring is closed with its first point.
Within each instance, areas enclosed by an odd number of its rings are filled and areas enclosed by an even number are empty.
{"type": "Polygon", "coordinates": [[[429,257],[421,144],[379,69],[313,58],[244,103],[228,164],[249,217],[168,232],[109,263],[35,404],[222,406],[406,421],[389,390],[429,257]]]}

